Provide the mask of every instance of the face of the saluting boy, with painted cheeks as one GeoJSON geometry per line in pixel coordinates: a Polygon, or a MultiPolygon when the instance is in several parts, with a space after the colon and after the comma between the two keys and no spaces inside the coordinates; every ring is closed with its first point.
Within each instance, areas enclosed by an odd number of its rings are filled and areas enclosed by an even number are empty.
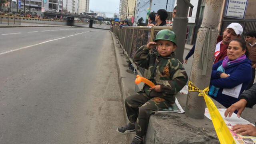
{"type": "Polygon", "coordinates": [[[177,48],[177,46],[169,40],[157,40],[156,43],[157,51],[161,56],[168,56],[177,48]]]}

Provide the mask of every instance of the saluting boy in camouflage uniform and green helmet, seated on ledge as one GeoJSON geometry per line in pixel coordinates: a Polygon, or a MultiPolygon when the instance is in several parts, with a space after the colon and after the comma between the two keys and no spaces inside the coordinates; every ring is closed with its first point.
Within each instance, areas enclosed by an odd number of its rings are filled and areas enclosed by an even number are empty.
{"type": "Polygon", "coordinates": [[[161,30],[154,42],[149,42],[136,52],[134,61],[148,69],[148,79],[156,86],[150,88],[144,84],[142,91],[125,99],[126,114],[130,122],[117,129],[122,134],[135,133],[131,144],[142,144],[148,128],[150,115],[168,108],[175,103],[175,96],[187,83],[188,76],[182,63],[175,58],[176,35],[171,30],[161,30]],[[150,54],[151,48],[157,51],[150,54]],[[139,108],[140,107],[140,108],[139,108]]]}

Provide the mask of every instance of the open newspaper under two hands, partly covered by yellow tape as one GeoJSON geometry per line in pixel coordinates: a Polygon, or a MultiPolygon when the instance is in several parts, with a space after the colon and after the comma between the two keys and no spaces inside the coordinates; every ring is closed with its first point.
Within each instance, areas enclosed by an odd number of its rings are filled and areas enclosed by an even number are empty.
{"type": "MultiPolygon", "coordinates": [[[[256,144],[256,137],[255,136],[242,136],[240,134],[234,133],[231,130],[232,126],[234,126],[236,124],[252,124],[252,123],[248,122],[247,120],[245,120],[241,117],[238,118],[235,113],[233,113],[230,118],[228,118],[228,117],[225,118],[224,113],[225,113],[226,109],[225,108],[220,108],[218,110],[219,110],[220,115],[222,116],[224,122],[228,126],[228,129],[229,129],[231,135],[233,136],[236,144],[256,144]]],[[[205,109],[204,115],[211,120],[208,108],[205,109]]],[[[254,126],[254,124],[252,124],[252,125],[254,126]]]]}

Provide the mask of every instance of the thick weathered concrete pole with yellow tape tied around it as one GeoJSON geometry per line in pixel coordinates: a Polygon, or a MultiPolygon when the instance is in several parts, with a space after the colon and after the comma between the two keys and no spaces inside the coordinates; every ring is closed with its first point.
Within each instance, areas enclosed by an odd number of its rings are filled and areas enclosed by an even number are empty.
{"type": "MultiPolygon", "coordinates": [[[[190,82],[200,90],[204,90],[210,84],[222,3],[223,0],[206,0],[205,2],[204,18],[201,28],[198,30],[190,73],[190,82]]],[[[203,96],[198,96],[198,92],[188,91],[185,110],[186,116],[203,119],[205,106],[203,96]]]]}

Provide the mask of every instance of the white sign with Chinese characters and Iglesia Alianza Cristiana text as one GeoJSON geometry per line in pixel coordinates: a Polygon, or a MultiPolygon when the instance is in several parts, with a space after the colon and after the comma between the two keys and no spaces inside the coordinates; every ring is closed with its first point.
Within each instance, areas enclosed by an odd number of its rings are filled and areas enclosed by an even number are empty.
{"type": "Polygon", "coordinates": [[[228,0],[225,17],[244,19],[248,0],[228,0]]]}

